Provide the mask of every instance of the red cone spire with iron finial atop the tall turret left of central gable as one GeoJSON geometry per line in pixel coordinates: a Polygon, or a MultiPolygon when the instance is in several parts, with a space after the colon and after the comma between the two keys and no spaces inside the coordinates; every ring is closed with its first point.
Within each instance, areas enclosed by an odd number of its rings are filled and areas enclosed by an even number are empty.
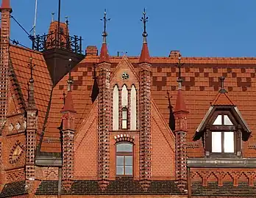
{"type": "Polygon", "coordinates": [[[110,18],[107,18],[107,12],[104,10],[104,17],[101,19],[104,21],[104,29],[102,32],[103,42],[102,42],[102,49],[101,54],[99,55],[99,63],[101,62],[110,62],[110,56],[107,52],[107,21],[110,21],[110,18]]]}

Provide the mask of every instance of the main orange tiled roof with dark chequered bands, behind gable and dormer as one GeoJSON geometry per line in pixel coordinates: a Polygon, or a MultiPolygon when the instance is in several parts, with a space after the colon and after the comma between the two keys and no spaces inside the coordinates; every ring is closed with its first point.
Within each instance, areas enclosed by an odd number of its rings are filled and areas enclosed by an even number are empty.
{"type": "MultiPolygon", "coordinates": [[[[138,72],[139,57],[130,56],[129,61],[138,72]]],[[[121,57],[110,57],[111,67],[114,69],[121,57]]],[[[72,70],[74,84],[72,85],[72,95],[74,100],[74,109],[76,109],[76,129],[79,128],[83,120],[88,117],[88,112],[92,106],[90,98],[93,87],[93,63],[99,62],[99,56],[87,56],[72,70]]],[[[167,92],[170,93],[171,105],[174,105],[177,99],[177,76],[178,68],[175,66],[177,59],[171,57],[151,57],[152,62],[152,98],[157,104],[160,113],[163,114],[166,122],[169,122],[170,110],[167,92]]],[[[220,82],[218,77],[226,77],[225,87],[229,92],[230,100],[238,106],[243,119],[246,120],[250,129],[256,130],[256,59],[255,58],[193,58],[182,57],[185,63],[182,71],[182,94],[185,98],[186,108],[190,112],[188,115],[188,145],[193,143],[193,134],[198,128],[200,122],[205,117],[210,103],[214,101],[220,82]]],[[[98,68],[96,68],[98,74],[98,68]]],[[[63,91],[67,89],[65,76],[56,87],[52,96],[51,111],[46,125],[42,150],[60,152],[60,132],[57,129],[60,126],[63,107],[63,91]]],[[[254,155],[254,150],[248,149],[248,144],[255,144],[254,136],[244,144],[244,155],[254,155]]],[[[188,148],[190,156],[203,155],[202,145],[188,148]],[[196,148],[195,148],[196,147],[196,148]]]]}

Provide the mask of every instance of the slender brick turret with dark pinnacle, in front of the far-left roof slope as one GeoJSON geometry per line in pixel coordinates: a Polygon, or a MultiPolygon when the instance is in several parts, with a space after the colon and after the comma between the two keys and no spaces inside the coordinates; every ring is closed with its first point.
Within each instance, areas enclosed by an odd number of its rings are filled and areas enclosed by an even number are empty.
{"type": "MultiPolygon", "coordinates": [[[[34,98],[34,78],[32,56],[29,59],[30,79],[29,79],[29,97],[26,108],[26,186],[30,187],[35,180],[35,150],[36,150],[36,132],[38,128],[38,109],[35,106],[34,98]]],[[[31,189],[29,189],[31,190],[31,189]]]]}

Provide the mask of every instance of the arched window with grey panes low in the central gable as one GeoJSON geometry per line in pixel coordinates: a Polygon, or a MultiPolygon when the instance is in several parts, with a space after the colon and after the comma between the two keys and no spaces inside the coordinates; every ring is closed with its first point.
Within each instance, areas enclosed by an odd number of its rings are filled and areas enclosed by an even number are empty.
{"type": "Polygon", "coordinates": [[[133,175],[133,144],[121,142],[116,144],[116,167],[117,176],[133,175]]]}

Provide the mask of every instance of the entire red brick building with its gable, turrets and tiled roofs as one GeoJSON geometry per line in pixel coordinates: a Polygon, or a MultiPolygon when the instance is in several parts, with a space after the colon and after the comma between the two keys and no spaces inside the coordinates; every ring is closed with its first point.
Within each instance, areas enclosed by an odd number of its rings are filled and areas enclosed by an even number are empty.
{"type": "Polygon", "coordinates": [[[110,56],[104,32],[53,83],[45,56],[63,48],[11,45],[11,11],[3,0],[0,197],[255,197],[255,58],[150,57],[146,27],[140,57],[110,56]],[[234,152],[215,153],[214,132],[234,152]]]}

